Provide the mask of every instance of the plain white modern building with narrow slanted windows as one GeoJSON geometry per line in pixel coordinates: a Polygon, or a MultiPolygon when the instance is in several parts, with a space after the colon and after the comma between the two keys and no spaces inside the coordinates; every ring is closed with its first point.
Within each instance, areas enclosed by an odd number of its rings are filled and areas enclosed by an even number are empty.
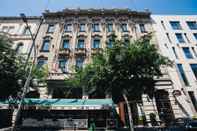
{"type": "Polygon", "coordinates": [[[173,110],[176,105],[182,110],[181,114],[174,114],[194,117],[197,112],[197,16],[152,15],[152,19],[159,51],[174,62],[173,67],[167,68],[172,80],[172,89],[168,92],[173,110]]]}

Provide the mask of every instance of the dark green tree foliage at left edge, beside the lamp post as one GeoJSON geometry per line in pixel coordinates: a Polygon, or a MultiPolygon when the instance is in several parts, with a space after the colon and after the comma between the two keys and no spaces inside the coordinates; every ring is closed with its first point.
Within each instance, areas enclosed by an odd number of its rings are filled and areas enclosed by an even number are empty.
{"type": "MultiPolygon", "coordinates": [[[[23,86],[18,82],[19,80],[24,82],[27,76],[25,57],[18,55],[12,45],[13,42],[9,38],[0,36],[0,99],[7,99],[9,96],[17,97],[23,86]]],[[[32,78],[41,79],[46,75],[46,70],[33,69],[32,78]]]]}

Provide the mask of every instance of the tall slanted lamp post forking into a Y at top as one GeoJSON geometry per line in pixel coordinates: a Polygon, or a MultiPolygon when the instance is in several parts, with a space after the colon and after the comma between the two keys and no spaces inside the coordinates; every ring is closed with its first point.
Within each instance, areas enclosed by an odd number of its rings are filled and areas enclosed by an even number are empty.
{"type": "MultiPolygon", "coordinates": [[[[21,111],[21,107],[22,107],[22,104],[23,104],[23,100],[25,98],[25,95],[28,91],[28,88],[29,88],[29,85],[30,85],[30,82],[32,80],[32,77],[31,77],[31,74],[32,74],[32,70],[33,70],[33,66],[35,64],[35,60],[36,60],[36,46],[35,46],[35,40],[37,38],[37,35],[39,33],[39,30],[40,30],[40,27],[43,23],[43,18],[41,17],[40,19],[40,23],[39,23],[39,26],[38,26],[38,29],[36,31],[36,34],[35,36],[33,36],[33,33],[31,32],[31,29],[29,28],[29,25],[28,25],[28,20],[27,20],[27,17],[25,16],[24,13],[20,14],[23,22],[26,24],[26,28],[29,30],[30,32],[30,35],[31,35],[31,39],[32,39],[32,45],[31,45],[31,48],[29,50],[29,53],[28,53],[28,56],[26,58],[26,63],[25,63],[25,70],[28,71],[28,74],[27,74],[27,79],[25,80],[25,84],[23,86],[23,89],[22,89],[22,94],[21,94],[21,100],[18,104],[18,109],[17,110],[14,110],[14,113],[15,113],[15,119],[14,119],[14,122],[13,122],[13,129],[15,130],[15,127],[16,127],[16,124],[17,124],[17,121],[18,121],[18,118],[20,117],[20,111],[21,111]],[[30,65],[29,68],[27,68],[28,66],[28,62],[29,62],[29,58],[32,54],[32,50],[34,49],[34,57],[33,57],[33,62],[32,64],[30,65]],[[29,70],[28,70],[29,69],[29,70]]],[[[20,82],[22,84],[22,81],[19,80],[18,82],[20,82]]],[[[34,84],[35,84],[35,81],[34,81],[34,84]]]]}

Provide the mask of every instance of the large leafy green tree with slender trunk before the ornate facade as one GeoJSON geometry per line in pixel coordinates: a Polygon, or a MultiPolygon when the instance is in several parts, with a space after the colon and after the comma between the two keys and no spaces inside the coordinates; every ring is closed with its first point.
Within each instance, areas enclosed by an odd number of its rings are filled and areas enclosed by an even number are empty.
{"type": "Polygon", "coordinates": [[[97,54],[92,63],[81,71],[84,75],[78,82],[78,86],[82,84],[110,93],[115,102],[124,100],[131,130],[133,120],[129,100],[141,100],[144,93],[153,94],[154,78],[162,76],[161,66],[172,64],[158,53],[151,38],[148,34],[136,41],[125,42],[113,36],[113,47],[97,54]]]}

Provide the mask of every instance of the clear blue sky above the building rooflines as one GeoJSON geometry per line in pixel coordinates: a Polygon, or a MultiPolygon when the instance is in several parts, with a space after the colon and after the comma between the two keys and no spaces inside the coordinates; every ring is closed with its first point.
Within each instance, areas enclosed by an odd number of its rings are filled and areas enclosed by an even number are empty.
{"type": "Polygon", "coordinates": [[[153,14],[195,14],[197,0],[0,0],[0,16],[18,16],[20,13],[36,16],[46,10],[64,8],[130,8],[153,14]]]}

